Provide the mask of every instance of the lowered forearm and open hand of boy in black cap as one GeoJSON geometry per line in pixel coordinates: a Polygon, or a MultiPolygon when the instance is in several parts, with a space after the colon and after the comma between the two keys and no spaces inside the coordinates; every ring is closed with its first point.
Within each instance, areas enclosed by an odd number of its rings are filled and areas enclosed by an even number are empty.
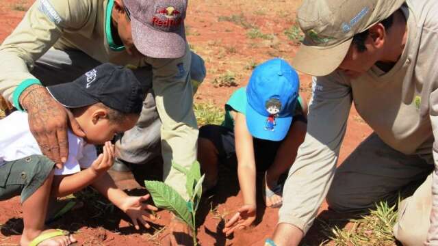
{"type": "Polygon", "coordinates": [[[146,210],[156,211],[158,208],[155,206],[144,204],[149,199],[149,194],[141,197],[129,196],[124,191],[118,189],[114,180],[110,174],[105,173],[91,184],[94,189],[99,191],[102,195],[107,197],[112,204],[116,205],[120,210],[126,213],[132,220],[137,230],[140,229],[138,221],[143,224],[144,227],[150,228],[149,224],[144,221],[143,216],[149,217],[149,219],[155,220],[155,216],[146,210]]]}

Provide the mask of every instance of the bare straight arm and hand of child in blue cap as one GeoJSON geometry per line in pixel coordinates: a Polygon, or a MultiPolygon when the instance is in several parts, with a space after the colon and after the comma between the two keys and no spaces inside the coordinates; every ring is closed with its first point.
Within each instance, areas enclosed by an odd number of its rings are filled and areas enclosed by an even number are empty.
{"type": "Polygon", "coordinates": [[[250,226],[255,221],[256,198],[255,198],[255,157],[253,136],[246,126],[246,118],[242,113],[235,114],[235,150],[237,155],[237,174],[239,176],[240,189],[244,196],[244,205],[225,225],[223,232],[227,235],[237,229],[250,226]]]}

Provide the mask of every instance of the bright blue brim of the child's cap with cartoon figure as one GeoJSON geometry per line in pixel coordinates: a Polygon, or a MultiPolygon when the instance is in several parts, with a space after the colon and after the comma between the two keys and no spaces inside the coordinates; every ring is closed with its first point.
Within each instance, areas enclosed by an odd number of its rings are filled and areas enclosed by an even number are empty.
{"type": "Polygon", "coordinates": [[[248,131],[253,137],[270,141],[281,141],[286,137],[292,124],[292,116],[275,118],[274,131],[271,131],[266,129],[266,120],[268,120],[266,115],[257,113],[253,107],[246,103],[246,126],[248,126],[248,131]]]}

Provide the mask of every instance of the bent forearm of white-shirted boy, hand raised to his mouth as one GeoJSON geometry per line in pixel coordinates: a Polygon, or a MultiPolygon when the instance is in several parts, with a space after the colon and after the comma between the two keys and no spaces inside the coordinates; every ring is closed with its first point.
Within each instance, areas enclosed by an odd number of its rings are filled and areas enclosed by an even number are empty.
{"type": "Polygon", "coordinates": [[[88,187],[96,178],[110,169],[114,163],[114,145],[107,141],[103,147],[103,154],[92,165],[73,175],[55,176],[52,184],[52,194],[56,197],[70,195],[88,187]]]}

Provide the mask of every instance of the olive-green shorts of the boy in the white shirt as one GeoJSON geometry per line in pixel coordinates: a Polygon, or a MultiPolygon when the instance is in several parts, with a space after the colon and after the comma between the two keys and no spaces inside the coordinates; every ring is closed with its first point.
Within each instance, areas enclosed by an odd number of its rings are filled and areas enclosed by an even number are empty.
{"type": "Polygon", "coordinates": [[[0,200],[21,195],[25,202],[47,180],[55,163],[42,155],[31,155],[0,166],[0,200]]]}

